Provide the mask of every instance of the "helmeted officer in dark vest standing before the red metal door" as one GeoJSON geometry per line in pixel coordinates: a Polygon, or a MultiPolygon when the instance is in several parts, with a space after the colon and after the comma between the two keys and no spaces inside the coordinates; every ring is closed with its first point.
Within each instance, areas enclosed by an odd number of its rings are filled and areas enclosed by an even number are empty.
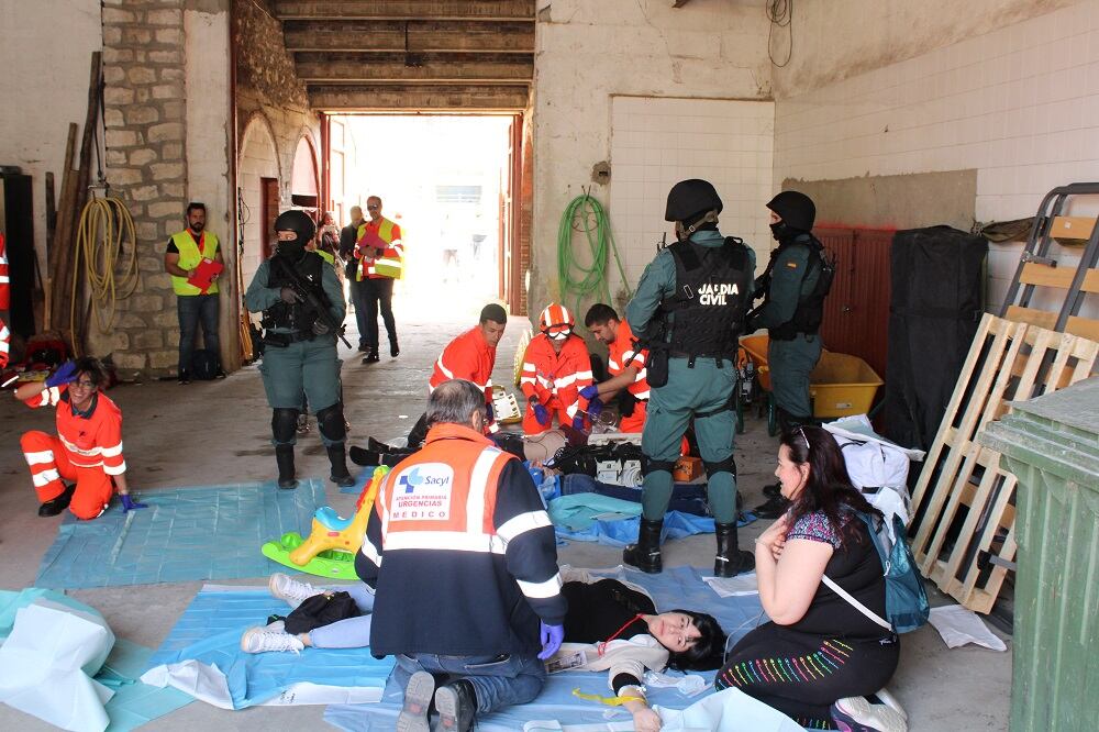
{"type": "Polygon", "coordinates": [[[810,422],[809,375],[821,357],[818,334],[831,277],[824,275],[821,243],[812,235],[817,207],[804,193],[785,190],[767,203],[778,241],[756,280],[763,304],[748,317],[747,332],[766,328],[767,365],[782,432],[810,422]]]}

